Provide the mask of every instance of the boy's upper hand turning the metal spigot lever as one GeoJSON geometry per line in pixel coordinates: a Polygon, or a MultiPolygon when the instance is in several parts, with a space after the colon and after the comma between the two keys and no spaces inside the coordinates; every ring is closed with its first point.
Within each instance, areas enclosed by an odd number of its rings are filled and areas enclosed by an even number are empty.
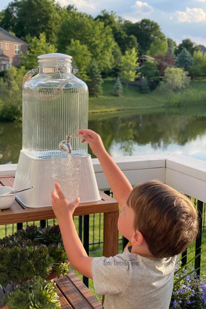
{"type": "Polygon", "coordinates": [[[84,143],[85,141],[88,142],[93,154],[96,155],[97,157],[103,151],[106,151],[99,134],[89,129],[78,130],[78,133],[82,133],[83,135],[82,143],[84,143]]]}

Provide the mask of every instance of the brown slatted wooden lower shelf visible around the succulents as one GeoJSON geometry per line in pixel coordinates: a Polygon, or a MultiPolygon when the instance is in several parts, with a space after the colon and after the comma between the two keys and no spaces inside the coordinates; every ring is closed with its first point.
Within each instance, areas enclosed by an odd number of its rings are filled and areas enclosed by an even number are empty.
{"type": "MultiPolygon", "coordinates": [[[[69,269],[69,273],[65,277],[55,279],[57,294],[61,302],[62,309],[101,309],[102,304],[87,289],[84,283],[77,275],[69,269]]],[[[8,309],[7,306],[1,305],[3,294],[13,291],[13,287],[8,285],[3,290],[0,288],[0,308],[8,309]]]]}

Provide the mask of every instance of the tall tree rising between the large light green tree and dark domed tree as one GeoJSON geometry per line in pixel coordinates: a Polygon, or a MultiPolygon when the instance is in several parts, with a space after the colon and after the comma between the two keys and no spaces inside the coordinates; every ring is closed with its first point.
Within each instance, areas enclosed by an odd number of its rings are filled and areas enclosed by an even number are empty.
{"type": "Polygon", "coordinates": [[[138,51],[137,38],[134,35],[127,35],[123,30],[122,19],[117,16],[115,12],[110,13],[106,10],[101,11],[95,20],[100,20],[104,23],[105,27],[110,27],[116,43],[119,45],[121,52],[125,53],[126,50],[132,49],[133,47],[138,51]]]}

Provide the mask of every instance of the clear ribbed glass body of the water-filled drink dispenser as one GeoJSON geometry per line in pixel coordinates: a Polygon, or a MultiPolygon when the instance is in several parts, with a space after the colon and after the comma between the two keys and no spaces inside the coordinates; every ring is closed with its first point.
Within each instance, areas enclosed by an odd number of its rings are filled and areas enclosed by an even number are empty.
{"type": "MultiPolygon", "coordinates": [[[[23,151],[34,158],[67,156],[59,150],[66,135],[88,127],[88,89],[70,74],[41,73],[23,86],[23,151]]],[[[71,138],[72,153],[85,156],[87,143],[71,138]]]]}

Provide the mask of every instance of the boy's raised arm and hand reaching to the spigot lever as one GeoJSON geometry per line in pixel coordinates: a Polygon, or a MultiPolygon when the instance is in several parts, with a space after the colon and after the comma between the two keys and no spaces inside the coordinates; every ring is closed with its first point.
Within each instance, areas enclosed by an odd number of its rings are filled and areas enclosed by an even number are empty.
{"type": "Polygon", "coordinates": [[[120,206],[124,205],[132,191],[132,186],[127,177],[105,150],[99,134],[89,129],[79,130],[78,132],[83,135],[82,143],[85,141],[88,142],[94,155],[99,159],[99,163],[103,168],[103,172],[116,200],[120,206]]]}

